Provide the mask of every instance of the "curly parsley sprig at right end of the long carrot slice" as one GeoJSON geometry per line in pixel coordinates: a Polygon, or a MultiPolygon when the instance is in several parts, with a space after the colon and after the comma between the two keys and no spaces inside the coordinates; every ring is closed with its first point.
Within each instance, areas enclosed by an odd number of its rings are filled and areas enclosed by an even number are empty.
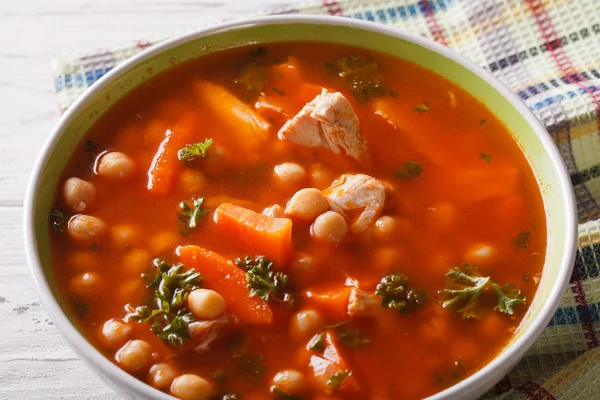
{"type": "Polygon", "coordinates": [[[264,301],[275,300],[286,306],[294,305],[294,297],[287,290],[288,276],[273,270],[273,261],[265,257],[237,258],[235,264],[246,271],[250,296],[258,296],[264,301]]]}

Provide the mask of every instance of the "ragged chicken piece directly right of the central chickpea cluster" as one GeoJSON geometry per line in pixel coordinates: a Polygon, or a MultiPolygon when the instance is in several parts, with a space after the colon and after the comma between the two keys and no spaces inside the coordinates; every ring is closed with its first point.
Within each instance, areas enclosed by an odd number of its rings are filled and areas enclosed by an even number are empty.
{"type": "Polygon", "coordinates": [[[350,226],[354,233],[364,232],[375,221],[391,192],[389,184],[364,174],[344,174],[323,190],[331,209],[342,215],[363,209],[350,226]]]}

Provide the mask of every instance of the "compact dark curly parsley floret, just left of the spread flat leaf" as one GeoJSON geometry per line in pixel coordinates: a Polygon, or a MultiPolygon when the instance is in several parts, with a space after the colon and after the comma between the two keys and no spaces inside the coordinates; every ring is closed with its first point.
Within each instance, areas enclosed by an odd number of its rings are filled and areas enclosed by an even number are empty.
{"type": "Polygon", "coordinates": [[[413,289],[408,284],[408,278],[401,274],[384,276],[377,284],[375,294],[381,297],[381,305],[393,308],[399,313],[415,310],[427,300],[423,289],[413,289]]]}

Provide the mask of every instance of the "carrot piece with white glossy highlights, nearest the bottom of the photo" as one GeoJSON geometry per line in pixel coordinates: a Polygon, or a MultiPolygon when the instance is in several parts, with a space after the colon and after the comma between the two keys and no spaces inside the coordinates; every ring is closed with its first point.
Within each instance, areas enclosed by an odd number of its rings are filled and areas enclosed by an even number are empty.
{"type": "Polygon", "coordinates": [[[313,354],[309,362],[317,383],[322,385],[328,393],[335,391],[342,394],[356,394],[359,391],[359,386],[354,376],[346,376],[338,388],[331,381],[333,375],[349,373],[350,371],[331,333],[325,333],[324,341],[325,350],[323,353],[313,354]]]}

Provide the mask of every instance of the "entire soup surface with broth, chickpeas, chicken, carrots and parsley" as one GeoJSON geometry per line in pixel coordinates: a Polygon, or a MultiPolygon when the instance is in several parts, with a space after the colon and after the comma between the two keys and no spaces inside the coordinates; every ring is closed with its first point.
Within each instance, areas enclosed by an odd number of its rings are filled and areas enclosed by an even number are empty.
{"type": "Polygon", "coordinates": [[[418,399],[533,299],[546,222],[484,105],[332,44],[227,50],[147,81],[74,151],[50,216],[73,318],[183,399],[418,399]]]}

